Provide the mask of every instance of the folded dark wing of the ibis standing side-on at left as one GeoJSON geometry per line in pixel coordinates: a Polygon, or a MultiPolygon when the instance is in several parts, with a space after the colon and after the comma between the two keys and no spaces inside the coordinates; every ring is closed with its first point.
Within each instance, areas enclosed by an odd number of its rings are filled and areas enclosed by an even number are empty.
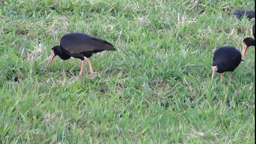
{"type": "Polygon", "coordinates": [[[60,40],[60,45],[70,54],[89,51],[115,50],[114,46],[103,39],[86,34],[67,34],[60,40]]]}

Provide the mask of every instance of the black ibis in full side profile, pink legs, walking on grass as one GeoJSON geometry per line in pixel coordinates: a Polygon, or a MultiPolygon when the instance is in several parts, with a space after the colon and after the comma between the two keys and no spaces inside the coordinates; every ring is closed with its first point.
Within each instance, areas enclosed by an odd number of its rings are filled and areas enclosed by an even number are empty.
{"type": "Polygon", "coordinates": [[[52,60],[56,55],[63,60],[67,60],[70,57],[75,57],[81,59],[81,67],[78,74],[81,76],[84,70],[85,59],[89,65],[90,73],[93,75],[97,72],[92,70],[92,65],[88,58],[91,57],[93,53],[98,53],[105,50],[114,51],[116,49],[111,43],[108,43],[103,39],[89,36],[88,34],[69,33],[60,39],[60,46],[56,45],[52,47],[51,56],[47,65],[49,66],[52,63],[52,60]]]}

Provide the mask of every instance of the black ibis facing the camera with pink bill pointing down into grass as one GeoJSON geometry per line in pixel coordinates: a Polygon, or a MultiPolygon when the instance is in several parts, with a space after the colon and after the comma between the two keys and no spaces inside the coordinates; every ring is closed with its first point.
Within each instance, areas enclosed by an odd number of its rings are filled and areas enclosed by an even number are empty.
{"type": "MultiPolygon", "coordinates": [[[[223,80],[223,73],[230,71],[229,81],[231,82],[232,72],[238,67],[242,55],[238,49],[232,46],[223,46],[216,49],[213,55],[212,80],[215,72],[220,73],[220,80],[223,80]]],[[[212,82],[211,80],[211,82],[212,82]]]]}

